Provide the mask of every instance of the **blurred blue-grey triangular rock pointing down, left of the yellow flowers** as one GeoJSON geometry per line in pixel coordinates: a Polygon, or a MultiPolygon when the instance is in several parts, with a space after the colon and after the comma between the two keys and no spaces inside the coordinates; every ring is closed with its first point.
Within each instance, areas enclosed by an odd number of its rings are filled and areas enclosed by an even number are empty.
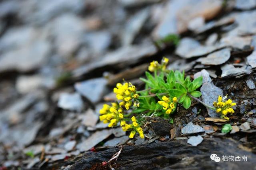
{"type": "Polygon", "coordinates": [[[108,81],[105,78],[94,78],[83,82],[77,82],[74,87],[78,93],[89,99],[91,102],[99,102],[106,94],[106,85],[108,81]]]}

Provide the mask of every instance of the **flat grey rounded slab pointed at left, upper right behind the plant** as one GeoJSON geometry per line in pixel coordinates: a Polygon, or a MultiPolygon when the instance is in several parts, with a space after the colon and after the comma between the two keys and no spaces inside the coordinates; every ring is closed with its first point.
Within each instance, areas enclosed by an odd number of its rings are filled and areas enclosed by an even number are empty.
{"type": "Polygon", "coordinates": [[[230,58],[230,49],[222,49],[214,53],[210,53],[207,57],[198,59],[202,64],[205,65],[220,65],[226,63],[230,58]]]}

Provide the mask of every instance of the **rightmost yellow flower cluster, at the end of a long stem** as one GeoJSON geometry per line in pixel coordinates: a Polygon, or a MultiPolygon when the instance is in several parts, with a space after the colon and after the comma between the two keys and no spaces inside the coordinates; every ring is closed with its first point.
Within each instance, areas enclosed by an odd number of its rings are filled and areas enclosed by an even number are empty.
{"type": "Polygon", "coordinates": [[[213,106],[216,108],[217,113],[221,113],[221,118],[229,120],[229,118],[226,116],[228,113],[231,115],[235,113],[234,109],[231,107],[235,106],[236,103],[233,103],[231,99],[228,99],[226,102],[222,101],[222,96],[218,97],[218,102],[214,101],[213,106]]]}

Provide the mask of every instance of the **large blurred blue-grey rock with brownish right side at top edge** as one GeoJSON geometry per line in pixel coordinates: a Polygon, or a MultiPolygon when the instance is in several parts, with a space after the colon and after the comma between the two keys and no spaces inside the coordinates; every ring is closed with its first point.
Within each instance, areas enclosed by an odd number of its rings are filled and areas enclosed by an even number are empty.
{"type": "Polygon", "coordinates": [[[188,23],[197,17],[210,20],[222,8],[220,0],[172,0],[162,11],[162,20],[153,31],[154,38],[163,38],[168,34],[180,34],[188,30],[188,23]],[[203,9],[203,10],[202,10],[203,9]]]}

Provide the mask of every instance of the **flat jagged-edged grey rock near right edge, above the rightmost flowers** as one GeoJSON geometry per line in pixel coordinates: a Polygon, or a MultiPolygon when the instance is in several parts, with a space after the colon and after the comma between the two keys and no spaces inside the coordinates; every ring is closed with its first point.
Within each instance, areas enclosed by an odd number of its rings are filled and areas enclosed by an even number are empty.
{"type": "Polygon", "coordinates": [[[222,78],[230,78],[230,77],[242,77],[246,74],[250,74],[252,72],[251,66],[242,66],[240,68],[234,67],[232,64],[225,64],[221,67],[222,78]]]}

